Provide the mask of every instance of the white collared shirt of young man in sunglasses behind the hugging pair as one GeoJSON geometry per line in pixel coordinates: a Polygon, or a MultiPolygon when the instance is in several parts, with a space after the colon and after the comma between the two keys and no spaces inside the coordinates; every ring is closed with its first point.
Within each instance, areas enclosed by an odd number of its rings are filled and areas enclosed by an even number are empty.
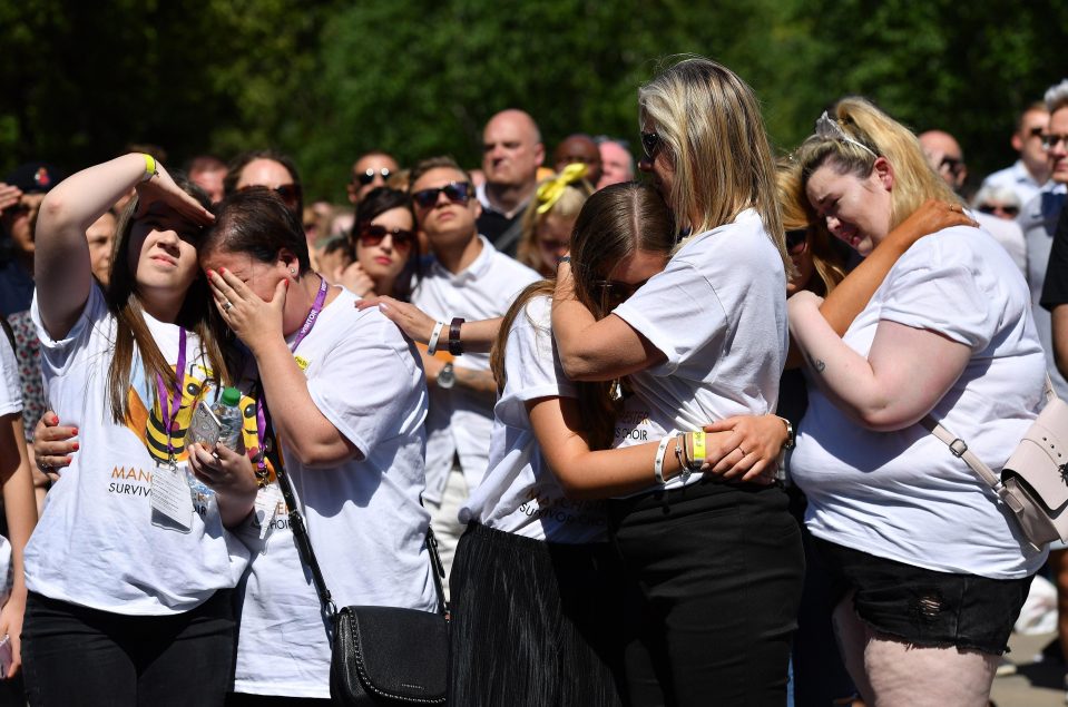
{"type": "MultiPolygon", "coordinates": [[[[540,279],[538,273],[499,253],[489,240],[479,236],[482,252],[464,271],[453,275],[432,261],[412,293],[412,304],[445,323],[438,347],[448,351],[448,326],[453,317],[469,322],[503,316],[523,287],[540,279]]],[[[489,354],[464,353],[455,365],[489,371],[489,354]]],[[[440,502],[452,469],[454,455],[468,488],[482,481],[489,464],[490,432],[493,429],[493,401],[459,385],[430,389],[430,414],[427,418],[427,492],[428,501],[440,502]]]]}

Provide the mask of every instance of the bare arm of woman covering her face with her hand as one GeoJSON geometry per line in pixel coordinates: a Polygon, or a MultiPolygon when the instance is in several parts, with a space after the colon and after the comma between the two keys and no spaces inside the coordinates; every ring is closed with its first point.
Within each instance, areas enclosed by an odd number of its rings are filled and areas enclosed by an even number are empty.
{"type": "Polygon", "coordinates": [[[363,459],[363,451],[320,412],[307,390],[307,379],[285,343],[282,310],[290,281],[278,282],[271,302],[261,300],[229,272],[208,273],[208,282],[219,313],[256,357],[271,421],[286,448],[308,467],[363,459]],[[224,311],[227,301],[232,306],[224,311]]]}

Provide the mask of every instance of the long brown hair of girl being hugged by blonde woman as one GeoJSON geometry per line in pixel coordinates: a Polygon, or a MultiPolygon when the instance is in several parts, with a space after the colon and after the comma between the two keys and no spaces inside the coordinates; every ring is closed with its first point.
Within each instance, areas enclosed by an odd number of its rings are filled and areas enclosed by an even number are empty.
{"type": "MultiPolygon", "coordinates": [[[[571,234],[571,275],[575,296],[597,320],[610,313],[598,282],[610,277],[625,257],[637,251],[659,253],[664,262],[675,246],[675,222],[656,189],[635,181],[614,184],[594,194],[575,222],[571,234]]],[[[501,322],[490,354],[490,367],[499,391],[507,382],[504,348],[512,323],[527,303],[537,296],[552,296],[556,283],[543,279],[528,286],[512,303],[501,322]]],[[[578,404],[586,423],[590,449],[611,446],[619,403],[613,399],[609,381],[577,382],[578,404]]]]}

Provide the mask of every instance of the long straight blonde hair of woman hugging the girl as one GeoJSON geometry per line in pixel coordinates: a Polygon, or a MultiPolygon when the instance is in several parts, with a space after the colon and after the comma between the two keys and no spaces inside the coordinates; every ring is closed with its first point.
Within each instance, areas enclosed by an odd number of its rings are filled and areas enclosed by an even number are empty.
{"type": "Polygon", "coordinates": [[[760,101],[734,71],[703,57],[680,57],[638,89],[641,119],[651,121],[675,168],[665,195],[680,226],[696,235],[754,208],[786,272],[775,167],[760,101]]]}

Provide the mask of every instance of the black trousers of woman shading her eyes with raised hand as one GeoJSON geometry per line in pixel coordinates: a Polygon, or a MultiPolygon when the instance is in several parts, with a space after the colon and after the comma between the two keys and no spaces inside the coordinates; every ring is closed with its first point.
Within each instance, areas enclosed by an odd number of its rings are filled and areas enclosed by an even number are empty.
{"type": "Polygon", "coordinates": [[[22,627],[29,704],[223,705],[234,671],[233,591],[176,616],[123,616],[30,592],[22,627]]]}

